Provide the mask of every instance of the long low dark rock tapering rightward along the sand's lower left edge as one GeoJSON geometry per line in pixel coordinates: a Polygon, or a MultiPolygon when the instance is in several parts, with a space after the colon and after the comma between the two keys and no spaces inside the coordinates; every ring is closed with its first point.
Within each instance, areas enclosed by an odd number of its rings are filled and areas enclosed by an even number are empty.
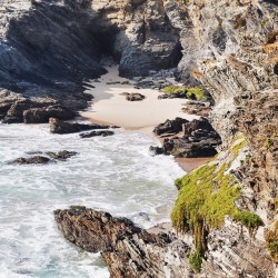
{"type": "Polygon", "coordinates": [[[59,135],[64,135],[64,133],[75,133],[75,132],[80,132],[85,130],[90,130],[90,129],[107,129],[109,126],[105,125],[85,125],[85,123],[70,123],[66,121],[58,120],[56,118],[50,118],[49,119],[49,125],[50,125],[50,132],[51,133],[59,133],[59,135]]]}

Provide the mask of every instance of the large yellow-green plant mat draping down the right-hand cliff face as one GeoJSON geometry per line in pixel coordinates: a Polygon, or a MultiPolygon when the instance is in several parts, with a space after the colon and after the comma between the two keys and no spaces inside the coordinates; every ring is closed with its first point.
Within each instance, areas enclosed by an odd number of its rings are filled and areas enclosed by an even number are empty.
{"type": "Polygon", "coordinates": [[[240,185],[226,172],[245,146],[246,141],[241,140],[231,148],[229,162],[208,162],[176,180],[179,195],[171,212],[171,220],[177,231],[192,232],[196,251],[190,255],[189,262],[195,271],[200,271],[209,230],[220,228],[225,216],[241,222],[250,232],[262,225],[257,215],[240,211],[235,206],[235,200],[240,195],[240,185]]]}

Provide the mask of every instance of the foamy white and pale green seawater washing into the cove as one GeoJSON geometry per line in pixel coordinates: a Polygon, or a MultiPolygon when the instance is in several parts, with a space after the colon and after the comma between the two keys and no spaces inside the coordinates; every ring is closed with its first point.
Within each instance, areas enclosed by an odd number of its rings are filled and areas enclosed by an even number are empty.
{"type": "Polygon", "coordinates": [[[52,211],[82,205],[145,228],[169,220],[173,180],[183,171],[171,157],[151,157],[150,145],[158,141],[137,131],[81,139],[50,135],[47,125],[0,125],[0,277],[109,277],[99,255],[63,239],[52,211]],[[7,163],[64,149],[79,155],[44,166],[7,163]]]}

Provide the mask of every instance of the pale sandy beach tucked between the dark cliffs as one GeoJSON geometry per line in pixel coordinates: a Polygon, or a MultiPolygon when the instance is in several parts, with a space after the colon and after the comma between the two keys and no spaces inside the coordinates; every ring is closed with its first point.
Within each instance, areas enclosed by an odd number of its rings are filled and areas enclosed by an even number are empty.
{"type": "Polygon", "coordinates": [[[90,121],[120,126],[125,129],[142,130],[151,133],[157,125],[167,119],[181,117],[188,120],[198,116],[181,112],[185,99],[158,99],[159,91],[153,89],[135,89],[132,85],[108,85],[107,82],[123,82],[125,78],[118,76],[118,68],[109,68],[109,72],[102,76],[100,82],[90,82],[96,88],[89,88],[86,92],[95,99],[91,107],[82,112],[82,117],[90,121]],[[122,92],[139,92],[146,96],[142,101],[127,101],[122,92]]]}

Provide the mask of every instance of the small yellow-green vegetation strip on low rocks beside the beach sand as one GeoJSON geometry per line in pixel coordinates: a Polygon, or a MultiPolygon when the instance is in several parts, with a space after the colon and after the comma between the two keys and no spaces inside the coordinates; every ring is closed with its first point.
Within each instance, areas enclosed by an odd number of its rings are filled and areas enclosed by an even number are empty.
{"type": "Polygon", "coordinates": [[[165,87],[162,90],[162,92],[165,93],[175,93],[175,92],[186,92],[187,97],[189,99],[197,99],[197,100],[201,100],[201,99],[208,99],[208,93],[205,92],[201,88],[199,87],[185,87],[185,86],[168,86],[165,87]]]}

